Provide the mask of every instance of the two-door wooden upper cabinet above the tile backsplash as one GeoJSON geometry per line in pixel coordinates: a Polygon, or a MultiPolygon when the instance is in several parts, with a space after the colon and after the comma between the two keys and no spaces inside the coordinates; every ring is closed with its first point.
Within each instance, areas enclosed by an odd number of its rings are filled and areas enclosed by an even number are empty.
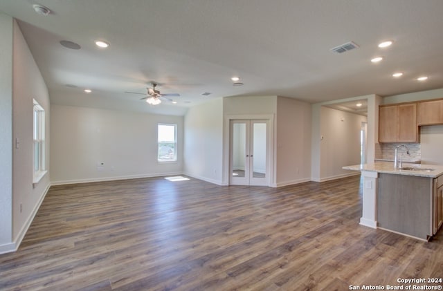
{"type": "Polygon", "coordinates": [[[379,106],[379,142],[419,142],[417,103],[379,106]]]}

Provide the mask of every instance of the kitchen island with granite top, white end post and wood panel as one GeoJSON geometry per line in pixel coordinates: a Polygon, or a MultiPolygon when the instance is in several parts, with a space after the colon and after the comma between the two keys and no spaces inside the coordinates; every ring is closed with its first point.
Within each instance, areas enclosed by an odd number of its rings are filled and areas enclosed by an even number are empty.
{"type": "Polygon", "coordinates": [[[443,167],[392,162],[343,167],[361,171],[360,224],[428,241],[443,222],[443,167]]]}

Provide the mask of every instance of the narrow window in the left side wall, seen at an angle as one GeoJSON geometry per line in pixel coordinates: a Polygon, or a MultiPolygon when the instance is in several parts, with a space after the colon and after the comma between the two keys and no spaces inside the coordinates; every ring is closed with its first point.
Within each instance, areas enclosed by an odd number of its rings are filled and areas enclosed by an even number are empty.
{"type": "Polygon", "coordinates": [[[44,109],[34,100],[33,133],[34,133],[34,182],[38,182],[46,173],[45,165],[45,132],[44,132],[44,109]]]}

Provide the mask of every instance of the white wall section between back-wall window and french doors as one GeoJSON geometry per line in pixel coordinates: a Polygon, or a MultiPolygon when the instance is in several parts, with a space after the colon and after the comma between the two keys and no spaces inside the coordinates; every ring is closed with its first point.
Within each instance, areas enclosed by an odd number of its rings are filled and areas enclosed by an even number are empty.
{"type": "Polygon", "coordinates": [[[222,183],[223,100],[212,100],[188,109],[184,118],[186,175],[222,183]]]}

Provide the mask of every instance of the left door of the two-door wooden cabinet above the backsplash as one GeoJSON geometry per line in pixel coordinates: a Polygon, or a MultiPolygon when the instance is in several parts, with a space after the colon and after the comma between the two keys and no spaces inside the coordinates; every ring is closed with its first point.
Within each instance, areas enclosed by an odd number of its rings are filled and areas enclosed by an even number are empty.
{"type": "Polygon", "coordinates": [[[379,107],[379,142],[397,142],[398,107],[379,107]]]}

